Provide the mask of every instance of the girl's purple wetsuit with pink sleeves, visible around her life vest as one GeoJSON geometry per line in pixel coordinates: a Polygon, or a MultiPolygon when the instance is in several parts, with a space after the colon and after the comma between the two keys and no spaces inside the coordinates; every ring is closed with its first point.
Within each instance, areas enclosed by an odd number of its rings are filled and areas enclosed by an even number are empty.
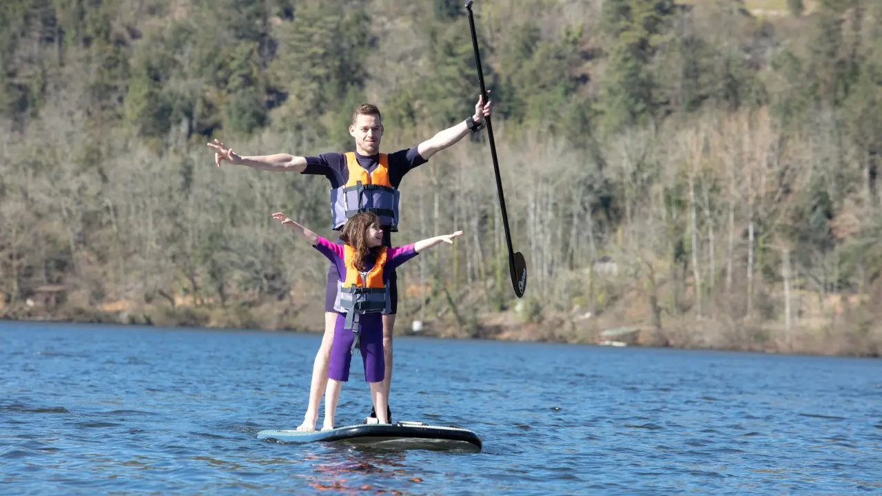
{"type": "MultiPolygon", "coordinates": [[[[316,250],[331,260],[340,274],[340,281],[346,281],[347,267],[343,260],[343,244],[333,243],[324,237],[318,237],[314,244],[316,250]]],[[[383,267],[383,282],[388,284],[389,275],[409,259],[413,259],[417,253],[414,244],[405,244],[395,248],[388,248],[386,262],[383,267]]],[[[369,257],[365,260],[365,270],[374,267],[375,259],[369,257]]],[[[364,313],[359,316],[361,324],[361,336],[359,337],[359,349],[362,352],[364,363],[364,380],[366,382],[380,382],[385,377],[385,362],[383,358],[383,317],[381,313],[364,313]]],[[[352,362],[352,342],[355,334],[344,329],[346,314],[337,314],[337,322],[333,330],[333,343],[331,345],[331,360],[328,364],[328,377],[333,380],[346,382],[349,380],[349,364],[352,362]]]]}

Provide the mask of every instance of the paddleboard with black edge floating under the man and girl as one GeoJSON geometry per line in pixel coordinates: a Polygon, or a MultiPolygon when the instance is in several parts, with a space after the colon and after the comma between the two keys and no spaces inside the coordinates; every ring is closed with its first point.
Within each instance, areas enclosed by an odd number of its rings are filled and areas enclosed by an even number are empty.
{"type": "Polygon", "coordinates": [[[481,438],[467,429],[407,421],[395,424],[347,425],[330,431],[313,432],[267,429],[258,432],[258,440],[286,443],[343,442],[373,447],[461,451],[481,451],[482,447],[481,438]]]}

